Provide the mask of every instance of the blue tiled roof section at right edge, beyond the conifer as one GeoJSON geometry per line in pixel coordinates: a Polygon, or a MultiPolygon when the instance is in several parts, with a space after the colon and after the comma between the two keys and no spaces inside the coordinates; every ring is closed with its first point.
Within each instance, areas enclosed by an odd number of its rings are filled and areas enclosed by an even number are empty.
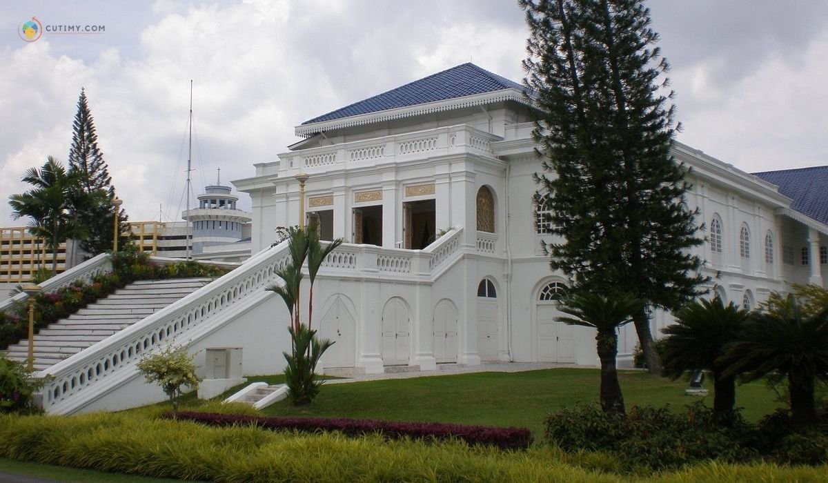
{"type": "Polygon", "coordinates": [[[793,200],[793,210],[828,225],[828,166],[764,171],[753,175],[779,186],[779,192],[793,200]]]}

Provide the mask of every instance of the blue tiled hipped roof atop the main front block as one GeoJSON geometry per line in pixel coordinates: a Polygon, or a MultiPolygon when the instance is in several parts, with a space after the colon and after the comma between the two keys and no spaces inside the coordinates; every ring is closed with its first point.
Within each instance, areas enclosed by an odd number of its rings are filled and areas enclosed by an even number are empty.
{"type": "Polygon", "coordinates": [[[484,94],[503,89],[523,91],[524,88],[517,82],[493,74],[489,70],[481,69],[469,62],[350,104],[342,109],[336,109],[328,114],[322,114],[302,124],[349,118],[359,114],[377,113],[388,109],[404,108],[416,104],[484,94]]]}

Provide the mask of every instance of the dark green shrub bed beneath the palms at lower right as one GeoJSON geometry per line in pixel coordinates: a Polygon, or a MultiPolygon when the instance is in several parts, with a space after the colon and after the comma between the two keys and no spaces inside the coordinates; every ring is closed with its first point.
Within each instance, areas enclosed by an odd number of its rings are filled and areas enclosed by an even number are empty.
{"type": "Polygon", "coordinates": [[[820,465],[828,462],[828,427],[797,431],[787,411],[758,426],[737,414],[732,427],[718,427],[702,403],[686,413],[669,408],[630,409],[626,417],[604,413],[598,404],[578,405],[546,418],[544,439],[565,452],[606,452],[636,467],[674,468],[705,460],[774,461],[820,465]]]}

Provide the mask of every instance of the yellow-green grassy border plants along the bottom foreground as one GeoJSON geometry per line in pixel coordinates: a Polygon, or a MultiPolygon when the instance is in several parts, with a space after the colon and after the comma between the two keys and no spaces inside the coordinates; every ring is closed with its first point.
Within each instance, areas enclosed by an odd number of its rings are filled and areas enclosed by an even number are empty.
{"type": "MultiPolygon", "coordinates": [[[[145,410],[146,411],[146,410],[145,410]]],[[[133,475],[255,481],[824,481],[828,467],[705,463],[617,474],[611,457],[549,446],[503,452],[463,442],[209,427],[140,414],[0,415],[0,457],[133,475]],[[575,461],[574,464],[566,462],[575,461]]]]}

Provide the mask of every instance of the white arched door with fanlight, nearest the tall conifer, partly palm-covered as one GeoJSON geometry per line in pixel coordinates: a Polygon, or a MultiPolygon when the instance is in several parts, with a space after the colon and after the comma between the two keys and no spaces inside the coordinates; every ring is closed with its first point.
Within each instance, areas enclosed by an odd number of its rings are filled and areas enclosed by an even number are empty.
{"type": "Polygon", "coordinates": [[[556,321],[566,316],[558,310],[556,297],[566,290],[561,282],[547,283],[535,304],[537,320],[537,360],[575,364],[575,326],[556,321]]]}

